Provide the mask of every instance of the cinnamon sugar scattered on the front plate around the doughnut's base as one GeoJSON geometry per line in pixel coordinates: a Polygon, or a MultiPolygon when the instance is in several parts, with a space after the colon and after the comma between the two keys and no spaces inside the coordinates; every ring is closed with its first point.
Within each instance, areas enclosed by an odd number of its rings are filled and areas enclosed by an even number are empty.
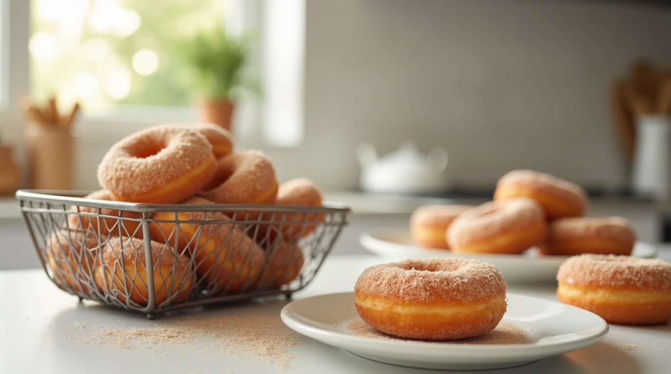
{"type": "Polygon", "coordinates": [[[525,330],[508,322],[501,322],[494,330],[485,332],[480,336],[456,340],[416,340],[399,338],[398,336],[391,336],[384,334],[384,332],[379,332],[378,330],[368,326],[366,322],[360,319],[345,322],[344,328],[340,327],[340,330],[347,334],[362,336],[364,338],[376,338],[384,340],[411,340],[432,342],[436,344],[511,345],[531,344],[533,342],[537,342],[540,339],[539,334],[531,330],[525,330]]]}

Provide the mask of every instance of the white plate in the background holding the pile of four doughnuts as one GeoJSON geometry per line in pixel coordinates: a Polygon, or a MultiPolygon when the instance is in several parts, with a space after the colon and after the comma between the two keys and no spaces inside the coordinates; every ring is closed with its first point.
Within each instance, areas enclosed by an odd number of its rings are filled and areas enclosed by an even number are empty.
{"type": "MultiPolygon", "coordinates": [[[[407,228],[375,229],[363,233],[359,243],[380,257],[391,261],[404,259],[418,259],[427,257],[467,257],[486,261],[495,265],[506,281],[531,281],[554,279],[559,266],[568,256],[539,255],[535,247],[528,249],[521,255],[497,255],[476,253],[454,253],[445,249],[419,247],[410,237],[407,228]]],[[[657,249],[654,245],[637,241],[631,255],[633,257],[655,257],[657,249]]]]}

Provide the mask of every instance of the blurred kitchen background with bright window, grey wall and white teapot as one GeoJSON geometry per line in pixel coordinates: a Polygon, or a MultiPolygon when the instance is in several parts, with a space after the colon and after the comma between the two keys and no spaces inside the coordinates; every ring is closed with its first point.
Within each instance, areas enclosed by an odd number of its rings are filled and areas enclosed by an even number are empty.
{"type": "Polygon", "coordinates": [[[121,137],[202,118],[177,46],[221,25],[244,38],[250,79],[234,101],[236,149],[262,149],[280,182],[311,178],[352,206],[335,253],[363,253],[361,232],[407,225],[421,204],[484,202],[517,168],[581,184],[590,214],[625,216],[641,240],[671,239],[671,1],[0,4],[0,269],[39,266],[12,197],[32,185],[21,100],[81,104],[72,188],[96,190],[121,137]],[[662,135],[635,147],[641,117],[662,135]]]}

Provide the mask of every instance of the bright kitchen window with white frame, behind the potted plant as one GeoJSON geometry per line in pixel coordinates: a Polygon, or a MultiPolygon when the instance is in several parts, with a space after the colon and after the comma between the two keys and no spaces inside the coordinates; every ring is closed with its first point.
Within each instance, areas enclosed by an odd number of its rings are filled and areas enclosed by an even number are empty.
{"type": "Polygon", "coordinates": [[[143,126],[196,121],[196,98],[171,48],[222,21],[254,37],[252,75],[262,86],[260,98],[236,110],[240,147],[296,147],[303,139],[305,0],[9,3],[0,0],[0,131],[7,141],[23,141],[19,101],[26,95],[45,101],[56,94],[64,108],[83,103],[75,127],[87,139],[83,158],[86,147],[105,147],[143,126]]]}

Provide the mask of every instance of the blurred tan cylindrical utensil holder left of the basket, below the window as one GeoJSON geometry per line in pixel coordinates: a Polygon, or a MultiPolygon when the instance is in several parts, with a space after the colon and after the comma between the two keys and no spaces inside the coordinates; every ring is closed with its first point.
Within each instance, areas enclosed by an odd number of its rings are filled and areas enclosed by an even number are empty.
{"type": "Polygon", "coordinates": [[[26,143],[32,188],[74,189],[76,139],[69,131],[49,124],[28,123],[26,143]]]}

